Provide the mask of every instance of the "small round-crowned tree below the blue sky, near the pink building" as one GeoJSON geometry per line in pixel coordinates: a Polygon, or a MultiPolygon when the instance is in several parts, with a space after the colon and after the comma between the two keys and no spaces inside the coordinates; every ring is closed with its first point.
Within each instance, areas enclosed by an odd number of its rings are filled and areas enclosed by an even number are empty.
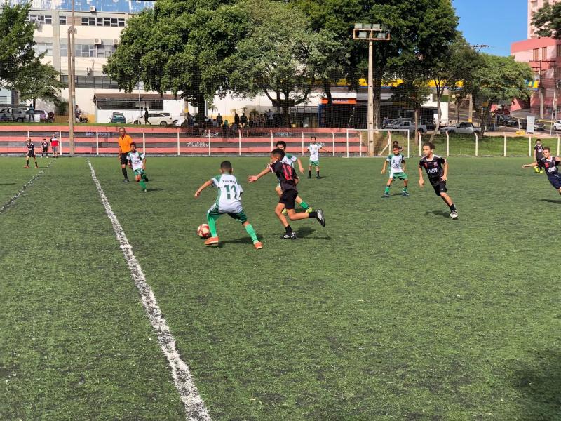
{"type": "Polygon", "coordinates": [[[478,54],[478,62],[471,77],[464,79],[462,91],[471,94],[475,113],[481,120],[481,132],[485,133],[491,106],[514,98],[527,99],[530,91],[526,81],[532,79],[532,69],[527,63],[513,57],[485,53],[478,54]]]}

